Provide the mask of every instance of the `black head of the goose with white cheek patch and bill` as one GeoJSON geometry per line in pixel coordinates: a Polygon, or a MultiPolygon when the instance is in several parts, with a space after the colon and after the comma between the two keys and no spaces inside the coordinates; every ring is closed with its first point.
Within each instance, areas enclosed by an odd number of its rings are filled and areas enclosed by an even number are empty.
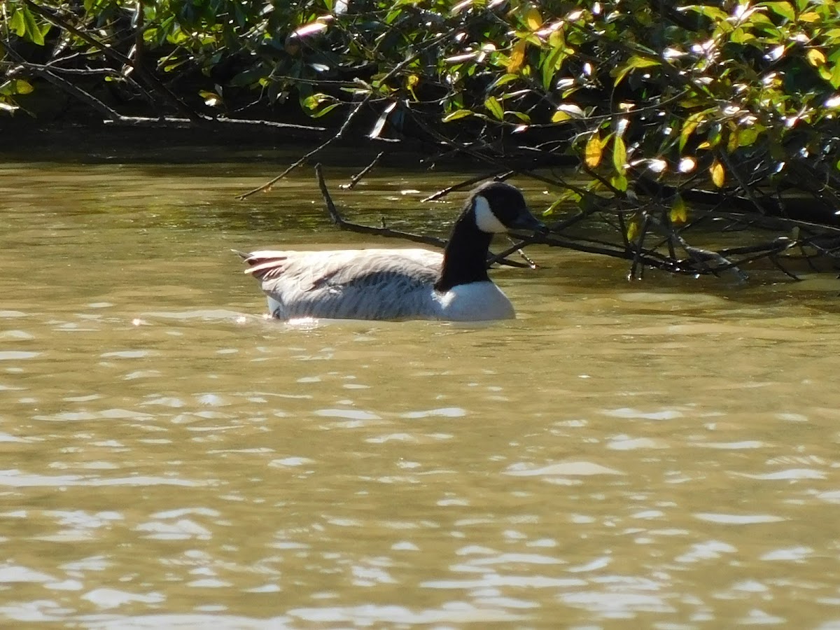
{"type": "Polygon", "coordinates": [[[512,229],[545,229],[528,210],[522,192],[504,181],[488,181],[475,188],[467,200],[467,207],[475,217],[475,227],[486,234],[505,234],[512,229]]]}

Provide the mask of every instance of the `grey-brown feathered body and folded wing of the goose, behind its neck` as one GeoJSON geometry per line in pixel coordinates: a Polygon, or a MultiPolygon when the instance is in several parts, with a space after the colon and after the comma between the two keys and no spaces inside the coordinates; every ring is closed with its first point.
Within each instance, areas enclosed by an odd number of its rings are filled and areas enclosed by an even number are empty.
{"type": "Polygon", "coordinates": [[[247,273],[272,314],[289,318],[436,318],[433,285],[443,255],[427,249],[256,251],[247,273]]]}

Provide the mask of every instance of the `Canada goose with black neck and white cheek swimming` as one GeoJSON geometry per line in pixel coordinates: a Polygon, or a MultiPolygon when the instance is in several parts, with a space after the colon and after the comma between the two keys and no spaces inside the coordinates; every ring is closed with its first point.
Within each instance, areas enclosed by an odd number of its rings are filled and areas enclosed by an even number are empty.
{"type": "MultiPolygon", "coordinates": [[[[428,249],[237,252],[280,319],[511,319],[513,306],[487,276],[493,234],[544,226],[522,192],[490,181],[470,192],[441,254],[428,249]]],[[[235,250],[234,250],[235,251],[235,250]]]]}

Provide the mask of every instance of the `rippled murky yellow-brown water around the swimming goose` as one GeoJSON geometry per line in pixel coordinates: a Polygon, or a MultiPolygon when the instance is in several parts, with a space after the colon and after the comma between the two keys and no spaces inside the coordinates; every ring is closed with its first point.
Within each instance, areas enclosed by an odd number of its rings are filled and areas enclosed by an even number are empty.
{"type": "Polygon", "coordinates": [[[271,171],[0,168],[0,626],[840,627],[834,276],[533,249],[513,322],[271,322],[230,248],[382,244],[271,171]]]}

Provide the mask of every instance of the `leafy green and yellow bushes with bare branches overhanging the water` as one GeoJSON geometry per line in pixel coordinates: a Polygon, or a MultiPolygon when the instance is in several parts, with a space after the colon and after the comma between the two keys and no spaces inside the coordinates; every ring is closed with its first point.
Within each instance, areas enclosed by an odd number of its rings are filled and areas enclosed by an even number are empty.
{"type": "Polygon", "coordinates": [[[8,151],[91,129],[294,148],[274,181],[348,146],[360,177],[475,174],[427,199],[527,177],[551,232],[496,258],[543,243],[627,260],[629,279],[837,270],[838,115],[836,0],[0,5],[8,151]],[[722,232],[738,246],[707,245],[722,232]]]}

